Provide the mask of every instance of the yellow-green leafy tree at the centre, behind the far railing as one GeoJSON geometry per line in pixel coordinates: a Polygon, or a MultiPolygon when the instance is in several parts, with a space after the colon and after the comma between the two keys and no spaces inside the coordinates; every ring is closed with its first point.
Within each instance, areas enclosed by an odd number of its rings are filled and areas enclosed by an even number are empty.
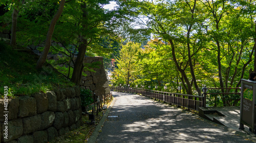
{"type": "MultiPolygon", "coordinates": [[[[154,39],[141,51],[139,66],[143,68],[140,70],[140,75],[143,75],[143,79],[147,81],[147,87],[158,85],[159,90],[163,90],[164,85],[176,87],[178,84],[173,82],[177,72],[174,63],[169,59],[171,56],[169,50],[170,45],[154,39]]],[[[173,91],[170,88],[168,90],[173,91]]]]}

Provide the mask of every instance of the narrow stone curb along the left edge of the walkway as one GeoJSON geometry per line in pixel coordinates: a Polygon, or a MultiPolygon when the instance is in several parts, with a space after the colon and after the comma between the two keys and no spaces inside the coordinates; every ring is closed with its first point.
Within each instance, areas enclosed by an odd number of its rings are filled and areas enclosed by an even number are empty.
{"type": "Polygon", "coordinates": [[[106,112],[104,113],[103,117],[101,118],[99,124],[97,125],[97,127],[95,128],[95,130],[93,131],[93,134],[91,135],[91,137],[88,140],[88,143],[94,143],[99,135],[99,131],[101,129],[101,126],[104,124],[106,118],[109,115],[109,112],[112,108],[112,106],[114,105],[116,99],[114,98],[113,101],[111,102],[110,106],[108,109],[106,109],[106,112]]]}

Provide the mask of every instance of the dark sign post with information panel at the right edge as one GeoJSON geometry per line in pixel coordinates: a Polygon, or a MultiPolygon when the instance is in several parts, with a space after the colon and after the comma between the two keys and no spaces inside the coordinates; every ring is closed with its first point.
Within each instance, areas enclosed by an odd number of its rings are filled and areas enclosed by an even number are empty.
{"type": "Polygon", "coordinates": [[[241,103],[240,103],[240,126],[244,130],[244,125],[256,133],[255,126],[256,107],[256,82],[241,79],[241,103]]]}

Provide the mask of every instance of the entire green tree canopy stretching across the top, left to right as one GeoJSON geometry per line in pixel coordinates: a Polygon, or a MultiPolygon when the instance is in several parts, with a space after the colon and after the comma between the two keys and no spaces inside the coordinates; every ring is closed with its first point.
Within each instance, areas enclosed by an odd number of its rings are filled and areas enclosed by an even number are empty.
{"type": "MultiPolygon", "coordinates": [[[[181,85],[186,94],[201,95],[202,85],[239,87],[240,79],[255,71],[254,0],[115,2],[114,10],[103,8],[109,0],[65,2],[50,52],[62,55],[55,65],[69,65],[59,70],[76,84],[86,68],[85,55],[104,56],[109,62],[116,59],[112,80],[116,85],[158,85],[160,89],[167,85],[170,92],[177,92],[181,85]]],[[[44,49],[60,3],[2,1],[0,16],[5,24],[0,30],[11,30],[16,20],[16,43],[44,49]]]]}

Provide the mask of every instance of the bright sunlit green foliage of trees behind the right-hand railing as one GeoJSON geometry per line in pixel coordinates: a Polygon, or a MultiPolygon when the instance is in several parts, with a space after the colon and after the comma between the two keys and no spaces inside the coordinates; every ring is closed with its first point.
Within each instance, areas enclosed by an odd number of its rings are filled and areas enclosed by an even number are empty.
{"type": "MultiPolygon", "coordinates": [[[[251,17],[256,7],[251,2],[117,3],[125,18],[132,22],[139,19],[137,26],[147,27],[161,39],[148,43],[151,49],[145,49],[139,57],[141,70],[136,81],[140,83],[158,81],[159,86],[171,85],[172,91],[182,84],[184,93],[199,94],[202,84],[216,88],[239,87],[240,79],[248,78],[249,70],[253,69],[255,23],[251,17]],[[140,81],[143,79],[145,82],[140,81]]],[[[221,97],[223,102],[230,99],[221,97]]]]}

